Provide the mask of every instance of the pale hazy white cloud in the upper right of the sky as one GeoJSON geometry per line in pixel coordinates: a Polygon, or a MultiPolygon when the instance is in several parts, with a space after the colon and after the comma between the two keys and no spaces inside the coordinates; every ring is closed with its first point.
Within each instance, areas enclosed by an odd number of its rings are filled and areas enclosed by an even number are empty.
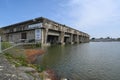
{"type": "Polygon", "coordinates": [[[70,0],[69,16],[74,17],[78,28],[94,28],[116,20],[120,16],[118,7],[115,0],[70,0]]]}

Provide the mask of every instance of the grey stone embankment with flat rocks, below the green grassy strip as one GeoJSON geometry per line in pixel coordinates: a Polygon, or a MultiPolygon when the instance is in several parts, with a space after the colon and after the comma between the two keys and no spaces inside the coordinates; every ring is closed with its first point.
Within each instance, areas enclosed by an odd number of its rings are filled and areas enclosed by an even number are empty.
{"type": "Polygon", "coordinates": [[[15,67],[0,55],[0,80],[41,80],[41,78],[34,68],[15,67]]]}

